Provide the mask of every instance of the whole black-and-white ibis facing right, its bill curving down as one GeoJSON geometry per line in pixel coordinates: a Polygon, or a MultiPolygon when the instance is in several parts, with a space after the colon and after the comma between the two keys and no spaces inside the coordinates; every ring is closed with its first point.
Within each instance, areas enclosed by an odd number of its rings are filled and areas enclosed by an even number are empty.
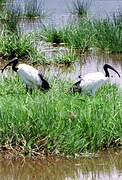
{"type": "Polygon", "coordinates": [[[115,71],[120,77],[120,74],[112,66],[108,64],[105,64],[103,66],[103,69],[105,71],[105,74],[103,74],[102,72],[94,72],[94,73],[88,73],[83,77],[80,76],[79,77],[80,80],[75,84],[73,84],[70,91],[71,92],[83,91],[85,93],[91,93],[91,95],[94,96],[97,88],[101,87],[102,84],[104,84],[109,79],[110,75],[108,69],[115,71]]]}

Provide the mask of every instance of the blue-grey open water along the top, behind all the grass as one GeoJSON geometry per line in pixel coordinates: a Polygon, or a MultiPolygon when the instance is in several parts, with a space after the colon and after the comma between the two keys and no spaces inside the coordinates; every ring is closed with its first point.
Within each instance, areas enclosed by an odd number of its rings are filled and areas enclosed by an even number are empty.
{"type": "MultiPolygon", "coordinates": [[[[31,2],[34,7],[39,8],[41,6],[46,15],[45,18],[36,19],[35,21],[21,21],[20,30],[24,33],[30,30],[38,30],[42,24],[53,23],[56,26],[61,26],[71,21],[72,0],[13,0],[11,2],[13,2],[16,9],[21,10],[24,9],[27,2],[31,2]]],[[[121,0],[91,0],[88,14],[90,18],[105,18],[118,9],[122,11],[121,0]]]]}

